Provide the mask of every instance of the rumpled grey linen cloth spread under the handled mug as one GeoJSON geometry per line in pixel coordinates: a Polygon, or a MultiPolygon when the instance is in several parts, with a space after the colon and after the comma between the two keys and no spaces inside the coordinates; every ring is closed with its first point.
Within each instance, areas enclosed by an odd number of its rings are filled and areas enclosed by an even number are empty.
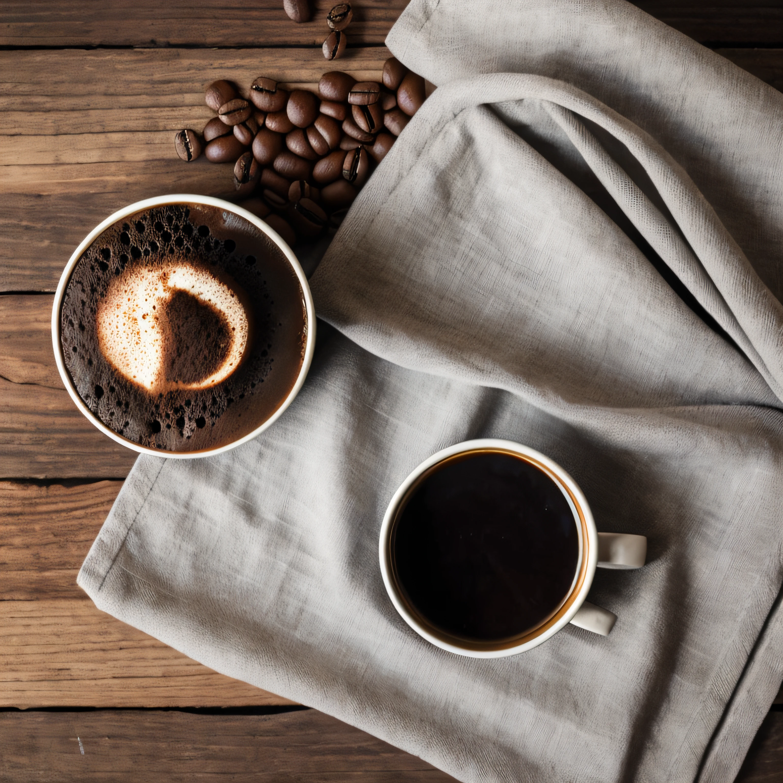
{"type": "Polygon", "coordinates": [[[316,270],[305,387],[139,458],[79,583],[461,781],[731,781],[783,677],[781,95],[619,0],[413,0],[388,45],[440,86],[316,270]],[[396,614],[388,501],[485,436],[648,536],[609,637],[475,660],[396,614]]]}

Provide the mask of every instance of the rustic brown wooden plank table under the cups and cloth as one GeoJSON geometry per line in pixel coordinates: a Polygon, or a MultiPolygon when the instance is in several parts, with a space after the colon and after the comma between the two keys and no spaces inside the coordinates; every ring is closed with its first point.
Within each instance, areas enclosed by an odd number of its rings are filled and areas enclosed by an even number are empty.
{"type": "MultiPolygon", "coordinates": [[[[0,6],[0,779],[448,781],[312,709],[223,677],[99,612],[75,584],[127,449],[81,417],[52,357],[52,291],[92,226],[160,193],[231,195],[173,134],[204,85],[315,83],[331,0],[4,0],[0,6]]],[[[377,79],[406,0],[362,0],[339,67],[377,79]]],[[[780,0],[642,8],[783,88],[780,0]]],[[[781,129],[783,130],[783,129],[781,129]]],[[[740,774],[783,781],[783,705],[740,774]]]]}

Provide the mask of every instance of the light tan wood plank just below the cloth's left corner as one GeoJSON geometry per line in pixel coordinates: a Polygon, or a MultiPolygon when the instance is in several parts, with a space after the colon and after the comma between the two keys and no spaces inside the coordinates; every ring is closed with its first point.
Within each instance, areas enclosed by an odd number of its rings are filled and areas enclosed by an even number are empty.
{"type": "Polygon", "coordinates": [[[291,703],[207,669],[86,598],[0,601],[0,651],[0,707],[291,703]]]}

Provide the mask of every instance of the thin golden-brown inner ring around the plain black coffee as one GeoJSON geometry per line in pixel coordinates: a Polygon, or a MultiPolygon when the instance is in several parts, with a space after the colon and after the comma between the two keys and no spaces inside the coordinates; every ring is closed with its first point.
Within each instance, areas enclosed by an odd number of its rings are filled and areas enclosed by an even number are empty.
{"type": "Polygon", "coordinates": [[[483,448],[468,449],[467,451],[460,451],[460,453],[446,456],[442,460],[436,462],[434,465],[428,467],[428,469],[420,474],[420,476],[417,476],[416,481],[414,481],[413,484],[408,487],[405,495],[402,496],[402,500],[400,500],[395,510],[395,515],[391,521],[388,536],[386,536],[386,556],[390,565],[391,584],[395,590],[395,593],[397,594],[397,597],[399,598],[400,603],[402,603],[407,612],[410,613],[413,619],[415,619],[416,622],[422,628],[424,628],[424,630],[430,633],[433,637],[441,640],[443,643],[450,644],[453,647],[482,652],[500,651],[508,650],[514,647],[520,647],[522,644],[527,644],[528,642],[541,636],[542,633],[546,633],[547,630],[559,622],[572,607],[576,599],[579,597],[579,594],[581,593],[582,587],[585,583],[585,579],[587,578],[587,564],[590,561],[590,536],[588,536],[587,521],[582,510],[581,503],[579,503],[576,495],[572,493],[568,485],[565,485],[564,482],[561,482],[560,478],[556,473],[554,473],[554,471],[550,469],[550,467],[547,467],[547,465],[543,464],[539,460],[536,460],[535,457],[528,456],[527,454],[521,454],[519,452],[513,451],[512,449],[485,446],[483,448]],[[508,637],[507,639],[493,639],[488,641],[460,637],[453,633],[446,633],[446,631],[442,630],[442,628],[438,628],[438,626],[433,625],[426,617],[424,617],[424,615],[422,615],[417,610],[417,608],[413,606],[413,602],[410,601],[410,597],[408,597],[406,594],[406,590],[399,580],[394,547],[395,536],[397,533],[397,523],[402,517],[402,511],[405,510],[408,501],[410,500],[411,496],[413,496],[413,493],[417,487],[422,482],[424,482],[426,478],[431,476],[431,474],[435,473],[435,471],[438,471],[441,467],[443,467],[444,464],[449,462],[461,462],[462,460],[467,459],[467,457],[474,454],[485,453],[508,454],[509,456],[515,456],[519,460],[523,460],[531,464],[533,467],[537,467],[539,471],[542,471],[544,474],[547,474],[547,476],[549,476],[549,478],[551,478],[555,484],[557,484],[557,486],[560,487],[571,499],[573,507],[576,508],[576,513],[579,515],[579,528],[582,532],[582,554],[579,561],[579,571],[577,572],[576,579],[572,584],[571,590],[568,593],[568,596],[565,598],[565,601],[563,601],[560,606],[555,609],[555,611],[549,617],[547,617],[547,619],[544,619],[532,630],[527,630],[525,633],[519,633],[513,637],[508,637]]]}

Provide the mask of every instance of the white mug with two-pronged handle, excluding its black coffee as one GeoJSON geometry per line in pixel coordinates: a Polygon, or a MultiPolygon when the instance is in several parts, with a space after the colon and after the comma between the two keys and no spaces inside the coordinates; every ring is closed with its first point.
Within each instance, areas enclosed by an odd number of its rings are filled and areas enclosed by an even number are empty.
{"type": "Polygon", "coordinates": [[[502,658],[517,655],[554,636],[557,631],[571,622],[601,636],[608,636],[617,619],[606,609],[588,603],[585,598],[596,568],[641,568],[647,557],[647,538],[626,533],[599,533],[595,528],[593,514],[579,485],[554,460],[519,443],[506,440],[484,438],[465,441],[449,446],[420,464],[399,487],[388,505],[384,521],[381,524],[379,542],[381,575],[391,602],[408,625],[420,636],[439,648],[458,655],[472,658],[502,658]],[[574,516],[579,535],[579,559],[570,593],[562,601],[554,615],[532,630],[518,637],[500,641],[466,640],[455,637],[431,624],[427,618],[417,612],[399,586],[395,572],[394,540],[395,525],[404,509],[410,493],[418,485],[418,479],[430,468],[458,454],[468,452],[507,453],[517,456],[537,467],[561,489],[574,516]]]}

